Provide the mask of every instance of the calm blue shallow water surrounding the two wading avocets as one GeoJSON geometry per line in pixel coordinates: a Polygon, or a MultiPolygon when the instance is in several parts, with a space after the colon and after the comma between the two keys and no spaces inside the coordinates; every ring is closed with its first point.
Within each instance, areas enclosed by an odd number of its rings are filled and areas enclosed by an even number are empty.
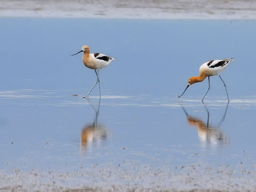
{"type": "Polygon", "coordinates": [[[217,170],[211,173],[215,183],[216,175],[225,181],[232,174],[222,188],[206,185],[210,176],[201,178],[199,189],[230,189],[232,182],[238,183],[233,189],[253,187],[255,21],[2,18],[1,23],[0,186],[15,189],[4,178],[15,183],[19,177],[9,171],[18,169],[24,178],[30,170],[43,175],[52,170],[57,178],[71,174],[68,188],[81,187],[77,183],[85,179],[74,172],[90,172],[94,179],[87,178],[85,187],[116,184],[122,191],[140,175],[144,179],[137,185],[144,188],[156,189],[153,181],[163,180],[158,189],[170,189],[171,180],[183,190],[195,188],[191,180],[191,186],[180,187],[186,183],[182,178],[188,173],[200,178],[205,172],[197,174],[193,166],[201,166],[217,170]],[[98,86],[82,99],[96,76],[83,66],[82,54],[70,55],[84,44],[117,58],[100,70],[100,100],[98,86]],[[234,61],[221,73],[229,103],[218,76],[210,78],[204,103],[206,80],[177,99],[202,63],[230,57],[234,61]],[[122,173],[113,171],[118,167],[122,173]],[[253,175],[247,183],[243,170],[253,175]],[[173,172],[178,181],[165,177],[173,172]]]}

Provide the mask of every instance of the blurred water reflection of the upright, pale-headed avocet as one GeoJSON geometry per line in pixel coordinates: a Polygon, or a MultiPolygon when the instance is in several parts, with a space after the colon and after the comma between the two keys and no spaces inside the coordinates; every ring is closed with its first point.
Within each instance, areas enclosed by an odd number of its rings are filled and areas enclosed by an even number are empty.
{"type": "Polygon", "coordinates": [[[98,109],[96,110],[90,100],[88,100],[89,104],[91,105],[92,109],[95,112],[95,119],[93,122],[86,124],[82,131],[81,131],[81,143],[80,143],[80,150],[81,152],[85,152],[88,148],[92,147],[93,145],[99,145],[102,140],[106,140],[109,133],[105,126],[98,123],[98,115],[100,111],[100,99],[98,104],[98,109]]]}

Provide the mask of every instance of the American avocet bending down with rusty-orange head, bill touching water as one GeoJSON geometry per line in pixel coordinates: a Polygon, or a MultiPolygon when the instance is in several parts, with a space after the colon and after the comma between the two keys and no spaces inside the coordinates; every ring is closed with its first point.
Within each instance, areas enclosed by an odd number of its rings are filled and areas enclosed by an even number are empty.
{"type": "MultiPolygon", "coordinates": [[[[233,61],[233,58],[224,59],[224,60],[210,60],[210,61],[205,62],[199,68],[199,76],[191,77],[190,79],[188,79],[188,86],[192,85],[194,83],[197,83],[197,82],[202,82],[202,81],[204,81],[204,79],[206,77],[208,77],[209,86],[208,86],[207,91],[204,94],[204,97],[205,97],[207,92],[210,90],[210,76],[218,75],[220,77],[220,72],[223,71],[231,61],[233,61]]],[[[224,83],[224,86],[225,86],[225,89],[227,92],[227,96],[228,96],[226,84],[221,77],[220,77],[220,79],[224,83]]],[[[178,98],[180,98],[185,93],[185,91],[188,89],[188,86],[186,87],[184,92],[180,96],[178,96],[178,98]]],[[[204,97],[202,98],[202,101],[204,100],[204,97]]],[[[228,97],[228,101],[229,101],[229,97],[228,97]]]]}

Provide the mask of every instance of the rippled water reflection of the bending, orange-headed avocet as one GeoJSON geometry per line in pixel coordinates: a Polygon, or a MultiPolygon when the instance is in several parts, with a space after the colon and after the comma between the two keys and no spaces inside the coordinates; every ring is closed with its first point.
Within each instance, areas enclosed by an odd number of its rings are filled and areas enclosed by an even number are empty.
{"type": "Polygon", "coordinates": [[[202,121],[201,119],[199,119],[197,117],[188,115],[185,108],[182,107],[184,112],[187,115],[188,124],[190,126],[198,126],[198,137],[202,143],[204,143],[204,144],[209,143],[210,145],[216,145],[216,144],[227,145],[230,143],[228,137],[226,135],[224,135],[221,132],[221,130],[219,129],[220,124],[225,120],[227,110],[228,110],[228,103],[227,103],[224,115],[223,115],[220,123],[218,124],[218,126],[212,126],[209,124],[210,113],[209,113],[209,110],[207,109],[206,105],[204,104],[204,102],[203,102],[203,105],[204,105],[204,108],[206,109],[207,116],[208,116],[207,123],[205,123],[204,121],[202,121]]]}

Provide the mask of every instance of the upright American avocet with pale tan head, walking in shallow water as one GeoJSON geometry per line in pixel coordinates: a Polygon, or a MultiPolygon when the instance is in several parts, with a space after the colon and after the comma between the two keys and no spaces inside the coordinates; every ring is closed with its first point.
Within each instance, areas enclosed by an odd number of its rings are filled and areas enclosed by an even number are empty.
{"type": "MultiPolygon", "coordinates": [[[[90,48],[87,45],[84,45],[82,47],[82,50],[77,52],[76,54],[78,54],[80,52],[84,52],[84,55],[83,55],[84,65],[90,69],[94,69],[94,71],[97,75],[95,84],[92,86],[91,90],[84,96],[84,97],[87,97],[87,96],[89,96],[92,89],[94,88],[94,86],[97,83],[99,83],[99,89],[100,89],[99,69],[103,69],[103,68],[107,67],[111,61],[115,60],[115,58],[108,57],[102,53],[90,53],[90,48]],[[96,71],[96,69],[98,72],[96,71]]],[[[74,54],[74,55],[76,55],[76,54],[74,54]]],[[[71,56],[73,56],[73,55],[71,55],[71,56]]],[[[101,94],[100,94],[100,96],[101,96],[101,94]]]]}

